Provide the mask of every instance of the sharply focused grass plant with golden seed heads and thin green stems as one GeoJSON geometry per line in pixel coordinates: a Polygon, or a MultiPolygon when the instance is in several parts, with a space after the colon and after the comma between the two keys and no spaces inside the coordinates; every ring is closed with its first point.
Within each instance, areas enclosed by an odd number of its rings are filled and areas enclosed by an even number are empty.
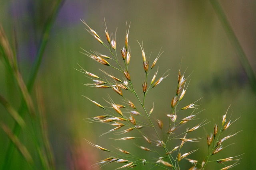
{"type": "Polygon", "coordinates": [[[168,72],[158,76],[159,68],[156,68],[156,65],[162,52],[160,51],[154,61],[149,63],[149,57],[144,51],[143,43],[142,45],[139,43],[142,52],[141,66],[144,70],[144,73],[142,73],[144,74],[144,80],[142,80],[141,90],[136,91],[135,89],[137,88],[134,87],[133,76],[129,74],[130,69],[133,69],[129,67],[132,59],[131,47],[128,45],[130,25],[126,30],[123,47],[118,49],[116,44],[119,43],[116,42],[116,36],[113,33],[109,34],[107,26],[105,27],[107,43],[104,43],[104,40],[96,31],[89,27],[84,20],[82,22],[86,25],[86,30],[104,48],[108,49],[108,54],[86,51],[85,49],[82,49],[81,53],[100,63],[102,67],[109,67],[112,70],[110,71],[111,73],[108,73],[103,68],[100,68],[102,75],[96,75],[80,66],[79,71],[92,80],[92,83],[85,85],[90,88],[112,89],[122,99],[114,101],[113,97],[109,95],[108,99],[104,99],[106,103],[100,104],[94,101],[93,98],[84,96],[104,112],[104,114],[97,114],[87,120],[97,124],[107,124],[110,130],[106,131],[104,128],[101,136],[112,133],[113,138],[109,140],[118,141],[118,146],[115,145],[113,149],[110,146],[99,146],[86,139],[92,147],[110,153],[109,157],[100,160],[95,166],[111,166],[110,164],[122,163],[116,169],[134,167],[142,169],[145,164],[150,164],[151,168],[180,170],[184,169],[182,165],[184,161],[188,161],[192,163],[190,170],[208,169],[207,167],[210,167],[212,162],[223,164],[221,170],[226,170],[239,164],[240,155],[228,158],[212,158],[212,155],[223,152],[222,150],[229,146],[224,141],[238,134],[238,132],[230,135],[223,134],[236,121],[227,119],[228,111],[222,116],[221,123],[216,123],[212,126],[206,137],[198,134],[197,130],[209,123],[209,121],[200,121],[198,116],[201,111],[198,111],[199,105],[196,104],[198,101],[185,105],[182,103],[189,81],[178,70],[177,87],[173,91],[174,96],[170,97],[168,102],[169,113],[162,113],[165,115],[156,114],[154,104],[146,103],[146,98],[154,88],[161,86],[160,83],[168,76],[168,72]],[[131,100],[126,92],[132,94],[136,101],[131,100]],[[141,95],[142,97],[140,97],[141,95]],[[138,103],[139,106],[135,106],[134,103],[138,103]],[[149,105],[153,105],[153,107],[146,109],[149,105]],[[165,118],[161,119],[162,116],[165,118]],[[116,137],[116,135],[120,137],[116,137]],[[208,148],[208,154],[202,155],[200,159],[195,159],[193,156],[195,156],[198,149],[205,149],[204,146],[202,148],[193,148],[194,145],[192,143],[200,140],[205,140],[204,143],[208,148]],[[138,156],[138,152],[136,154],[136,152],[122,149],[124,141],[129,141],[129,145],[135,145],[139,152],[152,155],[151,159],[138,156]],[[144,144],[141,145],[141,143],[144,144]],[[178,143],[178,145],[174,145],[174,143],[178,143]],[[190,150],[184,149],[185,145],[188,145],[190,150]]]}

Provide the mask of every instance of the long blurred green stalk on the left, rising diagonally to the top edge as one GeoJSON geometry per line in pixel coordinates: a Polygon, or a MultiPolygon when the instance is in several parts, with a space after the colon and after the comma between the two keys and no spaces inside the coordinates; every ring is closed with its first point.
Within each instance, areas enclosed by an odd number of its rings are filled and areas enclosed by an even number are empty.
{"type": "MultiPolygon", "coordinates": [[[[43,32],[40,46],[39,46],[39,49],[38,49],[38,52],[36,55],[36,59],[33,63],[32,70],[30,72],[30,76],[29,76],[28,82],[26,84],[26,88],[29,93],[31,92],[32,87],[34,85],[34,81],[36,79],[38,69],[39,69],[41,61],[42,61],[44,50],[45,50],[46,44],[48,43],[50,30],[52,28],[52,25],[58,15],[58,12],[63,3],[64,3],[64,0],[56,1],[56,3],[54,4],[54,8],[52,10],[52,14],[50,15],[50,17],[48,18],[48,21],[45,24],[44,32],[43,32]]],[[[26,113],[26,103],[25,103],[25,100],[23,100],[23,99],[21,102],[20,109],[18,110],[18,113],[20,114],[21,117],[24,117],[24,115],[26,113]]],[[[13,129],[14,135],[18,136],[20,133],[20,130],[21,130],[20,125],[15,122],[14,129],[13,129]]],[[[6,156],[5,156],[5,160],[4,160],[4,166],[2,168],[3,170],[10,169],[10,164],[12,161],[14,147],[15,147],[14,143],[12,141],[10,141],[10,143],[8,144],[8,148],[7,148],[7,152],[6,152],[6,156]]]]}

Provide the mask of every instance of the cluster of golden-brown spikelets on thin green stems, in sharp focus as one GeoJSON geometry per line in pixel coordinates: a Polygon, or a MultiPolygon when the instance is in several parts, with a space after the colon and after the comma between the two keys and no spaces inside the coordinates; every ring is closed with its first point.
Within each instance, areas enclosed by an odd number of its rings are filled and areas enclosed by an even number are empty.
{"type": "MultiPolygon", "coordinates": [[[[180,101],[184,97],[184,94],[186,93],[187,89],[187,79],[184,77],[184,75],[181,74],[180,70],[178,72],[178,85],[176,89],[176,95],[172,98],[170,101],[170,114],[166,114],[166,126],[164,126],[165,121],[162,121],[160,119],[154,118],[152,119],[152,113],[154,112],[154,105],[153,108],[150,110],[146,110],[145,108],[145,97],[152,88],[158,86],[164,78],[168,75],[162,75],[160,78],[156,79],[158,69],[152,76],[150,80],[148,80],[150,71],[154,68],[156,65],[160,55],[162,53],[158,53],[158,56],[152,63],[152,65],[149,67],[149,61],[146,57],[146,54],[144,52],[143,45],[141,47],[142,51],[142,59],[143,59],[143,67],[145,71],[145,80],[142,83],[142,91],[143,98],[140,99],[138,97],[138,93],[134,90],[134,86],[132,83],[132,78],[128,72],[128,66],[131,59],[131,52],[130,52],[130,46],[128,45],[128,35],[129,35],[129,28],[126,31],[126,37],[125,37],[125,43],[124,47],[120,48],[119,50],[116,50],[116,36],[111,34],[109,35],[107,27],[105,28],[105,34],[106,34],[106,40],[108,42],[108,45],[105,44],[100,36],[91,29],[84,20],[82,22],[87,26],[86,30],[95,37],[96,40],[98,40],[104,47],[106,47],[109,52],[110,56],[102,55],[99,52],[88,52],[83,49],[84,52],[82,52],[84,55],[92,58],[94,61],[97,61],[98,63],[101,63],[105,66],[109,66],[114,69],[116,72],[121,72],[123,74],[123,79],[117,78],[116,76],[113,76],[111,74],[108,74],[104,70],[101,70],[104,75],[106,76],[97,76],[91,72],[88,72],[84,70],[82,67],[80,68],[80,71],[83,72],[87,77],[91,78],[93,80],[93,84],[86,84],[90,87],[95,88],[110,88],[114,90],[118,95],[122,96],[123,103],[115,103],[110,97],[108,98],[109,101],[106,100],[106,103],[108,103],[109,106],[102,106],[101,104],[95,102],[94,100],[91,100],[90,98],[86,97],[88,100],[90,100],[92,103],[94,103],[96,106],[102,108],[105,110],[104,115],[96,115],[95,117],[90,118],[90,121],[99,122],[99,123],[107,123],[110,125],[111,128],[109,131],[103,133],[102,135],[106,133],[116,133],[118,134],[126,134],[131,131],[137,131],[137,134],[139,137],[120,137],[115,140],[133,140],[132,143],[134,143],[134,140],[136,139],[142,139],[145,140],[148,143],[148,147],[145,146],[138,146],[138,149],[142,149],[146,152],[155,152],[156,156],[158,156],[157,159],[152,160],[146,160],[144,158],[138,158],[134,154],[123,150],[118,149],[120,153],[116,153],[114,151],[111,151],[109,149],[106,149],[104,147],[101,147],[99,145],[95,145],[93,143],[90,143],[87,141],[90,145],[93,147],[96,147],[100,150],[106,151],[106,152],[112,152],[112,154],[116,154],[116,156],[108,157],[104,160],[100,160],[97,164],[99,165],[105,165],[109,163],[124,163],[123,166],[120,166],[117,169],[128,169],[128,168],[134,168],[138,165],[145,165],[145,164],[152,164],[153,166],[160,167],[162,169],[174,169],[179,170],[181,168],[180,161],[185,160],[192,163],[192,167],[190,170],[203,170],[206,167],[206,164],[209,162],[218,162],[224,164],[224,168],[221,170],[226,170],[229,168],[232,168],[233,166],[236,166],[239,164],[240,158],[237,158],[238,156],[233,156],[229,158],[223,158],[219,160],[211,160],[210,157],[214,154],[217,154],[218,152],[221,152],[225,147],[223,147],[222,143],[229,139],[230,137],[233,137],[237,133],[234,133],[233,135],[228,135],[226,137],[221,138],[221,134],[223,131],[228,129],[230,125],[232,125],[233,122],[231,120],[226,121],[226,114],[222,117],[222,124],[221,127],[219,127],[218,124],[214,125],[213,132],[210,133],[210,135],[207,135],[206,141],[208,145],[208,155],[202,156],[202,160],[194,160],[190,159],[189,157],[192,156],[192,153],[196,152],[196,150],[191,150],[189,152],[183,152],[182,147],[191,142],[197,142],[199,139],[202,139],[200,137],[196,138],[187,138],[193,131],[196,131],[198,128],[205,125],[205,120],[201,123],[195,125],[192,128],[186,128],[184,131],[179,131],[178,129],[180,127],[184,127],[184,125],[187,125],[187,123],[191,120],[195,120],[198,113],[194,113],[196,111],[196,105],[194,103],[189,104],[185,107],[178,107],[180,101]],[[120,55],[122,58],[118,58],[117,52],[120,52],[120,55]],[[120,60],[123,61],[123,64],[120,63],[120,60]],[[110,63],[114,64],[110,64],[110,63]],[[107,78],[106,78],[107,77],[107,78]],[[141,105],[140,108],[136,107],[132,101],[130,101],[128,98],[126,98],[123,95],[123,91],[127,90],[134,94],[136,100],[138,100],[138,103],[141,105]],[[123,110],[126,110],[125,112],[123,110]],[[191,109],[192,112],[190,115],[186,117],[181,117],[182,115],[179,114],[180,111],[191,109]],[[128,112],[128,114],[127,114],[128,112]],[[150,117],[151,116],[151,117],[150,117]],[[142,117],[142,119],[138,120],[137,117],[142,117]],[[144,121],[143,121],[144,120],[144,121]],[[150,129],[149,131],[144,131],[144,129],[150,129]],[[161,133],[160,131],[164,132],[161,133]],[[154,135],[152,135],[154,133],[154,135]],[[177,133],[177,134],[176,134],[177,133]],[[174,147],[173,145],[170,146],[171,141],[175,141],[176,143],[179,143],[178,146],[174,147]],[[179,142],[180,141],[180,142],[179,142]],[[226,165],[227,162],[235,162],[229,166],[226,165]]],[[[118,52],[118,53],[119,53],[118,52]]],[[[188,84],[188,83],[187,83],[188,84]]],[[[134,133],[133,133],[134,134],[134,133]]],[[[110,139],[111,140],[111,139],[110,139]]],[[[206,145],[206,146],[207,146],[206,145]]]]}

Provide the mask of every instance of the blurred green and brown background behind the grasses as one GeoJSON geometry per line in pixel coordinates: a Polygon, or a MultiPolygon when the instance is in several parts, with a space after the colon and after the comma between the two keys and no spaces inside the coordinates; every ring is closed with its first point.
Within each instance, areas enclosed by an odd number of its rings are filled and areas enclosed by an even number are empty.
{"type": "MultiPolygon", "coordinates": [[[[18,63],[25,82],[28,80],[44,25],[54,3],[52,0],[0,0],[0,23],[12,47],[14,47],[14,37],[16,38],[18,63]]],[[[255,73],[256,1],[222,0],[220,4],[255,73]]],[[[80,19],[84,19],[100,37],[105,37],[104,19],[110,33],[115,32],[118,27],[116,33],[118,52],[124,45],[126,22],[131,23],[130,74],[132,80],[136,81],[135,88],[138,90],[141,89],[144,71],[137,40],[140,43],[143,41],[146,55],[152,52],[152,61],[162,48],[164,53],[157,63],[158,75],[164,74],[168,69],[170,69],[168,72],[170,75],[152,91],[148,99],[150,103],[148,107],[152,107],[154,101],[158,114],[165,115],[170,111],[178,69],[181,67],[182,72],[186,70],[186,76],[191,74],[191,81],[184,97],[184,106],[202,98],[196,103],[200,104],[200,109],[205,109],[199,117],[212,121],[201,131],[203,137],[201,140],[205,145],[206,132],[212,131],[214,122],[221,119],[231,105],[228,117],[232,115],[232,121],[238,117],[240,119],[232,124],[226,135],[240,130],[242,132],[228,139],[227,143],[234,143],[234,145],[227,147],[221,155],[218,155],[218,158],[243,154],[240,164],[233,169],[256,169],[254,163],[256,94],[252,91],[236,50],[232,47],[208,0],[64,1],[50,31],[49,41],[31,93],[34,101],[36,101],[38,89],[42,94],[56,169],[90,170],[92,164],[108,157],[108,154],[91,147],[84,139],[105,147],[113,145],[112,141],[105,140],[106,137],[98,137],[104,133],[105,126],[84,120],[101,115],[102,110],[94,107],[82,95],[100,103],[104,102],[103,98],[106,99],[112,91],[84,86],[83,83],[90,80],[74,69],[79,69],[78,64],[80,64],[89,72],[102,74],[98,69],[102,68],[102,65],[79,53],[80,47],[87,51],[107,52],[84,29],[85,25],[80,19]],[[138,74],[138,72],[141,73],[138,74]]],[[[18,91],[3,62],[0,63],[0,94],[15,108],[19,107],[18,91]]],[[[11,129],[14,126],[14,121],[2,105],[0,120],[11,129]]],[[[30,138],[26,136],[26,131],[22,131],[20,139],[34,155],[33,152],[36,150],[33,150],[30,138]]],[[[2,129],[0,139],[0,166],[2,166],[9,143],[2,129]]],[[[133,146],[133,148],[136,150],[136,147],[133,146]]],[[[198,152],[198,154],[201,153],[204,151],[198,152]]],[[[216,164],[208,164],[209,169],[223,168],[216,164]]],[[[17,151],[14,152],[11,169],[28,169],[27,163],[17,151]]],[[[110,170],[113,167],[106,165],[100,169],[110,170]]]]}

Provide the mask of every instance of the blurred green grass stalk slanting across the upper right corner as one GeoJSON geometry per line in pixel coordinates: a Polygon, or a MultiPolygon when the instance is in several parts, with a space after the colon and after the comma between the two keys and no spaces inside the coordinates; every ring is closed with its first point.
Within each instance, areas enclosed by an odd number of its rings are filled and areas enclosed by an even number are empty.
{"type": "Polygon", "coordinates": [[[242,49],[242,46],[240,45],[230,23],[228,22],[228,18],[226,17],[226,14],[224,13],[224,10],[220,6],[220,3],[218,0],[210,0],[210,3],[212,4],[212,7],[214,8],[220,23],[222,24],[224,30],[226,31],[226,34],[228,36],[228,39],[230,40],[231,44],[233,45],[238,58],[248,76],[248,80],[250,82],[250,85],[252,87],[252,90],[254,94],[256,95],[256,76],[252,70],[252,67],[246,57],[246,54],[244,53],[244,50],[242,49]]]}

